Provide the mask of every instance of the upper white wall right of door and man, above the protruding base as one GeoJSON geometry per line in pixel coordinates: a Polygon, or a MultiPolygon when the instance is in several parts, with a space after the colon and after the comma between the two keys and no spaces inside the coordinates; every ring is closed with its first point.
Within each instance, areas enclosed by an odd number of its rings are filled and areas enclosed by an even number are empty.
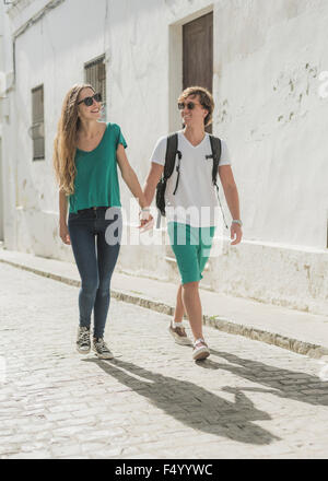
{"type": "Polygon", "coordinates": [[[215,9],[214,128],[235,161],[247,239],[327,247],[327,21],[325,0],[215,9]]]}

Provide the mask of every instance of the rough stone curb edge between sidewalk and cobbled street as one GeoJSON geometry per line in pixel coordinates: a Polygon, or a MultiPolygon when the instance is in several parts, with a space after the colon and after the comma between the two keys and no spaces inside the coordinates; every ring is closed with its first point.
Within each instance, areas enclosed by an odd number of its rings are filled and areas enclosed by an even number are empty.
{"type": "MultiPolygon", "coordinates": [[[[10,260],[0,259],[0,262],[8,263],[28,272],[33,272],[44,278],[49,278],[55,281],[62,282],[63,284],[73,285],[75,288],[80,288],[81,285],[80,281],[23,266],[21,263],[16,263],[10,260]]],[[[167,316],[174,315],[174,307],[165,303],[156,302],[144,296],[131,295],[129,293],[117,291],[115,289],[110,289],[110,294],[117,301],[136,304],[140,307],[155,310],[156,313],[166,314],[167,316]]],[[[213,327],[230,335],[243,336],[245,338],[265,342],[267,344],[273,344],[278,348],[286,349],[297,354],[308,355],[309,357],[320,359],[324,355],[328,355],[328,349],[320,344],[313,344],[311,342],[300,341],[297,339],[281,336],[271,331],[257,329],[249,326],[243,326],[242,324],[230,321],[220,316],[203,315],[203,324],[206,326],[213,327]]]]}

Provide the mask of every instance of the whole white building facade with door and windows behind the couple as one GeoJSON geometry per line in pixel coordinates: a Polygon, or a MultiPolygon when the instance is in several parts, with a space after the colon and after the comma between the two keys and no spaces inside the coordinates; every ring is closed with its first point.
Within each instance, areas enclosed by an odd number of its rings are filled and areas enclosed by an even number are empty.
{"type": "MultiPolygon", "coordinates": [[[[8,249],[72,260],[58,236],[51,160],[72,84],[102,90],[105,118],[120,125],[141,184],[157,138],[181,127],[179,92],[202,84],[213,92],[212,131],[227,142],[244,221],[236,247],[229,231],[218,232],[202,285],[327,314],[326,0],[16,0],[1,9],[8,249]]],[[[122,183],[121,198],[130,212],[122,183]]],[[[222,189],[221,201],[230,221],[222,189]]],[[[165,243],[131,245],[136,222],[127,215],[118,269],[177,280],[165,243]]]]}

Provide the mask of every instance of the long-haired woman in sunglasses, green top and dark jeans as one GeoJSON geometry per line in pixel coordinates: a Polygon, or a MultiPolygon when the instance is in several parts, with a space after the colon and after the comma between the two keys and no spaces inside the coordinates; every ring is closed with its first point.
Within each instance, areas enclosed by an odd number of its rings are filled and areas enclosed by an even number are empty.
{"type": "Polygon", "coordinates": [[[116,124],[98,121],[101,110],[101,94],[92,85],[74,85],[68,92],[55,139],[54,167],[59,184],[60,237],[65,244],[71,244],[81,277],[77,349],[83,354],[91,350],[93,312],[93,350],[101,359],[112,359],[113,354],[104,342],[104,330],[110,279],[120,247],[117,164],[125,183],[139,200],[144,219],[141,226],[151,216],[137,175],[126,156],[127,143],[120,128],[116,124]]]}

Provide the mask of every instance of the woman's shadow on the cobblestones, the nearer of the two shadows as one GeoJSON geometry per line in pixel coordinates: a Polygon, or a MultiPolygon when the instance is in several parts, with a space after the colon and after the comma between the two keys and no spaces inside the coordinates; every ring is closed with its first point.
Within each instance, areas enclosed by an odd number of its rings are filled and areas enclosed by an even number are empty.
{"type": "Polygon", "coordinates": [[[254,423],[271,418],[257,409],[242,391],[235,394],[234,401],[229,401],[197,384],[163,376],[119,359],[86,359],[84,362],[96,363],[105,373],[189,427],[253,445],[280,441],[254,423]]]}

